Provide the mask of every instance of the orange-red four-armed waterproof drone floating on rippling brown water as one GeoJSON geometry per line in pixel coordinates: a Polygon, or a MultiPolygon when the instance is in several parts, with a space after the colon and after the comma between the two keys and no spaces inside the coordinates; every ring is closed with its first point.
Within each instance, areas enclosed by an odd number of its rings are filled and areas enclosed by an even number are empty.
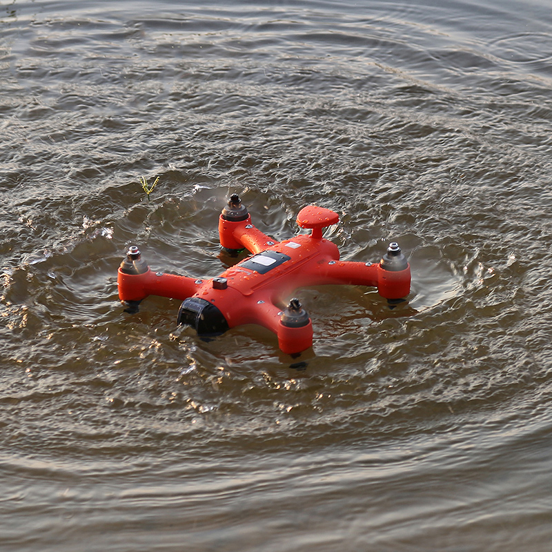
{"type": "Polygon", "coordinates": [[[131,313],[148,295],[181,299],[178,323],[192,326],[202,336],[259,324],[277,335],[284,353],[296,355],[312,346],[313,325],[297,299],[284,307],[282,300],[295,289],[321,284],[373,286],[389,300],[410,292],[410,266],[395,242],[377,264],[340,261],[337,246],[322,237],[323,228],[338,221],[337,213],[310,205],[299,211],[297,224],[312,233],[276,242],[251,224],[248,210],[233,194],[219,217],[220,244],[232,255],[245,248],[252,256],[215,278],[196,279],[152,272],[132,246],[119,267],[119,297],[131,313]]]}

